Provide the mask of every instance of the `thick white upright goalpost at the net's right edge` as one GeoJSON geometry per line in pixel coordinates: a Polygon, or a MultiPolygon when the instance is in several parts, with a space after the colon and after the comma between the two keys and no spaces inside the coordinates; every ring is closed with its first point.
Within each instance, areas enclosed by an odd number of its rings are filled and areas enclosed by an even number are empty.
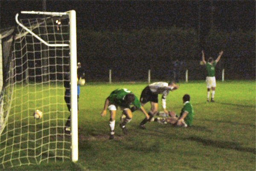
{"type": "Polygon", "coordinates": [[[77,113],[77,61],[76,61],[76,11],[70,17],[70,76],[71,76],[71,151],[72,161],[78,160],[78,113],[77,113]]]}

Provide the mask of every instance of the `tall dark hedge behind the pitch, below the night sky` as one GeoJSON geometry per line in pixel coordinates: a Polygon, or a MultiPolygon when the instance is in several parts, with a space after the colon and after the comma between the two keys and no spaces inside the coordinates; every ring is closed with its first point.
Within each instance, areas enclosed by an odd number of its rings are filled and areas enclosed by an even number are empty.
{"type": "MultiPolygon", "coordinates": [[[[91,30],[77,31],[78,61],[87,81],[146,81],[148,70],[156,80],[172,78],[173,61],[183,61],[182,73],[189,70],[189,79],[204,79],[205,69],[199,65],[201,49],[206,59],[217,58],[224,51],[216,67],[221,79],[225,69],[227,79],[255,79],[255,32],[220,32],[210,30],[203,46],[195,29],[140,29],[131,32],[91,30]]],[[[185,74],[181,75],[183,78],[185,74]]]]}

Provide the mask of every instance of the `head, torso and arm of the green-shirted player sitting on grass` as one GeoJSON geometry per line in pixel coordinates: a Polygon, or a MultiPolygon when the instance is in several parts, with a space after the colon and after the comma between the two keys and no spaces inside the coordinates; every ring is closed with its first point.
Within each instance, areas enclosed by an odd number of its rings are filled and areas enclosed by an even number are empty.
{"type": "Polygon", "coordinates": [[[188,94],[185,94],[183,96],[184,106],[181,110],[180,117],[177,120],[177,126],[183,126],[183,121],[186,122],[186,125],[192,126],[195,113],[189,101],[190,101],[190,96],[188,94]]]}

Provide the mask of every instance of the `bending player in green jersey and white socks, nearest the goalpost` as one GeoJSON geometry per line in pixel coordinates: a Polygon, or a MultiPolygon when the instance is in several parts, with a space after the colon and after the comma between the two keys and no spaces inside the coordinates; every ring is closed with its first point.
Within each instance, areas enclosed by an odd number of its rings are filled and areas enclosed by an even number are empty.
{"type": "Polygon", "coordinates": [[[128,89],[116,89],[114,90],[106,99],[104,109],[101,113],[101,116],[106,116],[107,109],[110,110],[110,137],[109,139],[114,138],[114,129],[115,129],[115,119],[116,119],[116,109],[119,106],[123,110],[123,115],[125,119],[120,123],[120,128],[124,134],[127,134],[127,129],[125,125],[132,119],[132,111],[130,105],[134,105],[136,108],[140,109],[147,119],[149,119],[148,113],[145,111],[144,107],[140,104],[139,99],[128,89]]]}

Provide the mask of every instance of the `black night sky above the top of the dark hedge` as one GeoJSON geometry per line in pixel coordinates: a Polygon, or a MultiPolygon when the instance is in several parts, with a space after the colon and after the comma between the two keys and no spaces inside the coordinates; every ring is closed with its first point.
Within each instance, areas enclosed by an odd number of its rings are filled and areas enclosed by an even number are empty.
{"type": "MultiPolygon", "coordinates": [[[[47,11],[75,9],[78,29],[124,30],[171,26],[222,31],[255,30],[256,1],[52,1],[47,11]],[[201,11],[201,13],[199,13],[201,11]]],[[[1,0],[1,28],[13,26],[22,10],[42,11],[42,1],[1,0]]]]}

